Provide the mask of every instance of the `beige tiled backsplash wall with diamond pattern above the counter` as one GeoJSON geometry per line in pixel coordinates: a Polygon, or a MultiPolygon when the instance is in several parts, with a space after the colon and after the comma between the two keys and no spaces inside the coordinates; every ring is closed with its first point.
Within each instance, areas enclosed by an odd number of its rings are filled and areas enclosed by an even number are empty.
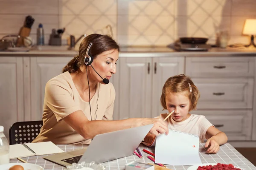
{"type": "Polygon", "coordinates": [[[120,45],[168,45],[178,37],[208,37],[228,30],[229,43],[248,43],[244,21],[256,18],[256,0],[0,0],[0,37],[18,34],[25,17],[35,18],[31,37],[44,25],[45,42],[52,28],[70,34],[110,34],[120,45]]]}

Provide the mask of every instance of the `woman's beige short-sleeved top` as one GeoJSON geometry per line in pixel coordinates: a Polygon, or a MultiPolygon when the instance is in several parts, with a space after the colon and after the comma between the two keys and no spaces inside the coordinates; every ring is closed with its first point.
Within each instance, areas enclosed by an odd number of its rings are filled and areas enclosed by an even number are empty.
{"type": "MultiPolygon", "coordinates": [[[[112,120],[115,100],[112,83],[97,83],[96,92],[90,100],[92,120],[112,120]]],[[[52,141],[55,144],[90,144],[62,120],[75,111],[83,111],[91,120],[89,102],[85,102],[67,71],[47,82],[44,96],[43,126],[33,142],[52,141]]]]}

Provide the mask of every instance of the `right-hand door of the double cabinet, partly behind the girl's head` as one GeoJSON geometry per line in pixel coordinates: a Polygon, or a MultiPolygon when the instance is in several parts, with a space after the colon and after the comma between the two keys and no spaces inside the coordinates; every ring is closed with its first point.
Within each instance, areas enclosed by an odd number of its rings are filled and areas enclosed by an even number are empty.
{"type": "Polygon", "coordinates": [[[184,74],[184,57],[155,57],[153,58],[153,97],[152,116],[159,116],[163,107],[160,96],[164,83],[169,77],[184,74]]]}

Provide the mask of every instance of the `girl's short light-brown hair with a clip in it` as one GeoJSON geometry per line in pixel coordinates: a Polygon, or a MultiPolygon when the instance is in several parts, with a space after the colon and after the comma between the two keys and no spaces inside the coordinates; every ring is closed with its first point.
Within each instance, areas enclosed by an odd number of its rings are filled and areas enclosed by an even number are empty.
{"type": "Polygon", "coordinates": [[[166,95],[169,93],[184,93],[188,96],[190,101],[189,111],[195,110],[200,97],[200,92],[198,88],[194,85],[190,77],[185,76],[184,74],[176,75],[170,77],[166,80],[163,85],[163,91],[160,98],[160,103],[163,106],[163,110],[166,109],[166,95]],[[189,87],[191,85],[192,91],[189,87]],[[191,92],[190,92],[191,91],[191,92]]]}

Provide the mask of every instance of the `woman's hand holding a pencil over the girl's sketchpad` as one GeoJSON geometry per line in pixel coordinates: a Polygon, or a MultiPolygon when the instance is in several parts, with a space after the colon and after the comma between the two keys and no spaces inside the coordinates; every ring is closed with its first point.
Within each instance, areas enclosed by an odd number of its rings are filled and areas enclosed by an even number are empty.
{"type": "Polygon", "coordinates": [[[166,135],[169,133],[167,122],[163,122],[163,120],[160,118],[143,118],[140,119],[140,121],[141,125],[154,124],[149,133],[156,136],[159,135],[159,133],[166,133],[166,135]]]}

